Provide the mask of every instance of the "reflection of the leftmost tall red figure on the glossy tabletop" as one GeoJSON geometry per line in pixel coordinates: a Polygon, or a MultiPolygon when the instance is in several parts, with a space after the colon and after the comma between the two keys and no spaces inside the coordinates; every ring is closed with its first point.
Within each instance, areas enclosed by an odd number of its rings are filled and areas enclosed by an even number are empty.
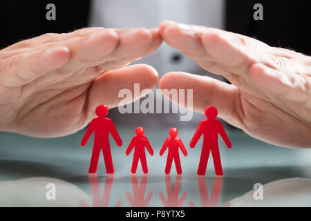
{"type": "MultiPolygon", "coordinates": [[[[113,174],[109,174],[106,177],[104,184],[104,191],[102,197],[100,195],[100,186],[98,185],[97,175],[88,175],[88,181],[90,182],[93,206],[94,207],[107,207],[109,206],[109,199],[111,195],[111,189],[113,186],[113,174]]],[[[120,207],[122,201],[118,200],[115,207],[120,207]]],[[[83,203],[83,206],[89,206],[87,203],[83,203]]]]}

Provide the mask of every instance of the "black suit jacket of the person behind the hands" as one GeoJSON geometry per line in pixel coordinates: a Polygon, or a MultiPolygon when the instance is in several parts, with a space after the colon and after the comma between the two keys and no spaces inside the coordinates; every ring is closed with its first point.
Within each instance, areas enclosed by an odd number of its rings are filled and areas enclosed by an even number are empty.
{"type": "MultiPolygon", "coordinates": [[[[46,32],[70,32],[85,27],[89,8],[89,0],[1,0],[0,48],[46,32]],[[57,6],[56,21],[46,20],[48,3],[57,6]]],[[[310,10],[310,0],[227,0],[226,28],[256,37],[270,46],[292,48],[311,55],[310,35],[307,35],[310,10]],[[263,4],[263,21],[253,19],[255,3],[263,4]]]]}

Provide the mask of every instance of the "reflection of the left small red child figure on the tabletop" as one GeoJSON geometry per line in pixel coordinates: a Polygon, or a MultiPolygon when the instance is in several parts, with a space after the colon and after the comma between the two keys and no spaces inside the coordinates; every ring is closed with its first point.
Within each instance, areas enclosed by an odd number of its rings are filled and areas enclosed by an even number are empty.
{"type": "Polygon", "coordinates": [[[133,186],[133,198],[131,194],[129,193],[129,191],[126,191],[125,194],[126,194],[127,200],[129,200],[129,203],[131,204],[132,207],[148,206],[153,195],[153,191],[149,191],[147,197],[144,198],[144,192],[146,191],[148,175],[146,174],[142,175],[142,180],[140,180],[140,185],[138,184],[138,179],[135,174],[131,175],[131,180],[132,180],[132,186],[133,186]]]}

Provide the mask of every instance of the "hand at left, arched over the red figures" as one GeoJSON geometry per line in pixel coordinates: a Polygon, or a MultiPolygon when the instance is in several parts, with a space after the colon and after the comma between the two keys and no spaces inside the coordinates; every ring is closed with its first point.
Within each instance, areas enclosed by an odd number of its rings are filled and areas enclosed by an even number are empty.
{"type": "Polygon", "coordinates": [[[97,105],[117,106],[120,89],[158,84],[150,66],[122,67],[161,43],[158,29],[85,28],[0,50],[0,130],[35,137],[75,133],[97,105]]]}

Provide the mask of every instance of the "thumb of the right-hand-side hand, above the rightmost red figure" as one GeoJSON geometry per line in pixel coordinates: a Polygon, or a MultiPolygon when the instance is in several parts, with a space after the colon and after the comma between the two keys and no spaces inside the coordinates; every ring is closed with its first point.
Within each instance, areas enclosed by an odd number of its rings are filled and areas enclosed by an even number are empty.
{"type": "MultiPolygon", "coordinates": [[[[241,111],[238,88],[232,84],[211,77],[171,72],[161,77],[159,87],[161,90],[184,89],[185,97],[188,97],[187,90],[192,89],[194,111],[204,113],[207,106],[215,106],[219,117],[234,126],[240,128],[242,126],[241,113],[243,112],[241,111]]],[[[178,100],[174,97],[167,93],[163,93],[163,95],[178,104],[178,100]]],[[[185,106],[187,107],[187,102],[185,102],[185,106]]]]}

